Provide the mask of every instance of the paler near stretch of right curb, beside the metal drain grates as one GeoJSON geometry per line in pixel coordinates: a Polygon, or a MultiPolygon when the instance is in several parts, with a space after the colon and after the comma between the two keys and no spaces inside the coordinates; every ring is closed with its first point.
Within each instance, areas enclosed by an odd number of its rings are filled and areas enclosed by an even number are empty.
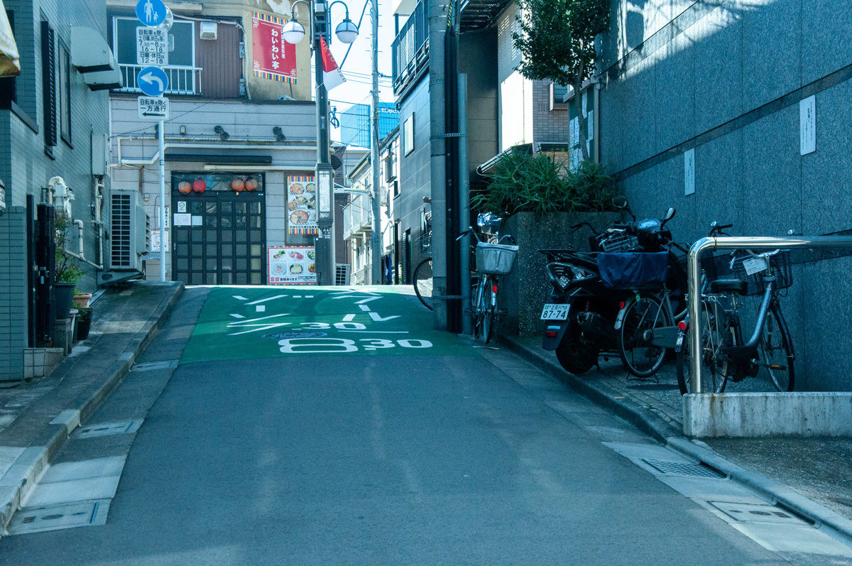
{"type": "Polygon", "coordinates": [[[730,477],[734,482],[762,495],[763,498],[772,501],[774,504],[786,507],[786,509],[815,523],[817,528],[827,531],[834,538],[852,546],[852,520],[843,517],[838,512],[809,500],[781,482],[776,482],[756,471],[746,470],[746,468],[722,458],[712,450],[700,447],[686,437],[672,437],[666,439],[666,442],[672,450],[709,465],[730,477]]]}

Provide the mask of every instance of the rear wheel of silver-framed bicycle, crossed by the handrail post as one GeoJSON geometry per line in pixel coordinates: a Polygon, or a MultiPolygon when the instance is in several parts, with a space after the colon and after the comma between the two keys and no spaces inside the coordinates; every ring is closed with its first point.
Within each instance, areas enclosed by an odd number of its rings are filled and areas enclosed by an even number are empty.
{"type": "Polygon", "coordinates": [[[699,321],[689,321],[688,334],[677,352],[677,385],[681,395],[693,392],[692,351],[690,333],[699,332],[701,350],[701,389],[704,393],[722,393],[728,384],[728,356],[722,347],[733,344],[733,328],[728,325],[728,315],[717,297],[701,301],[699,321]]]}

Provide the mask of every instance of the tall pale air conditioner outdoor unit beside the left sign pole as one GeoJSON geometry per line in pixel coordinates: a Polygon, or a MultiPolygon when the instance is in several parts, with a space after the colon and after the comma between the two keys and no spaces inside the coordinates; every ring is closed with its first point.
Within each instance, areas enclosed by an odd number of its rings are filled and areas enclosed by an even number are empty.
{"type": "Polygon", "coordinates": [[[105,285],[141,275],[142,259],[151,240],[151,225],[140,193],[112,190],[110,211],[110,269],[100,276],[105,285]]]}

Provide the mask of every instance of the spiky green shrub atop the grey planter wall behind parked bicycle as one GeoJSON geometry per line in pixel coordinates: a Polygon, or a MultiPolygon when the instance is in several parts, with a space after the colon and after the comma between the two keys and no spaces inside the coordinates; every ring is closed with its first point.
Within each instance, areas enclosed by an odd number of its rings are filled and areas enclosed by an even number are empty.
{"type": "Polygon", "coordinates": [[[571,170],[566,161],[546,153],[505,153],[486,188],[470,200],[475,211],[509,217],[515,212],[611,211],[615,185],[601,165],[580,162],[571,170]]]}

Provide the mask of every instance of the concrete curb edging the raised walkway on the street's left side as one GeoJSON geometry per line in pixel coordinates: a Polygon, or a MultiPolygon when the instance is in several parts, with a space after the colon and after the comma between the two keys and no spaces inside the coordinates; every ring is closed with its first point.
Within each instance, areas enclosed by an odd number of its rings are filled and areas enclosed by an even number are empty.
{"type": "Polygon", "coordinates": [[[145,326],[130,339],[124,353],[110,366],[107,378],[98,384],[97,389],[78,397],[77,407],[68,407],[57,415],[32,442],[34,446],[24,449],[14,460],[14,464],[0,478],[0,529],[8,534],[7,527],[21,500],[26,499],[39,476],[48,466],[50,459],[65,445],[68,437],[81,421],[88,419],[121,380],[133,367],[136,355],[153,340],[168,315],[181,297],[183,284],[177,286],[167,303],[159,305],[145,326]]]}

